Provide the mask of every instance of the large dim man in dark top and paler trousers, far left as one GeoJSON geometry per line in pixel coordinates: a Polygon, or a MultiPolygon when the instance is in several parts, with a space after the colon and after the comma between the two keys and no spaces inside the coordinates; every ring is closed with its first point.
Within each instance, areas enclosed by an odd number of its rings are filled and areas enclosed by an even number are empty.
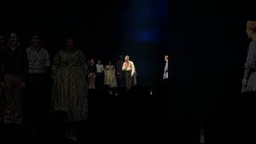
{"type": "Polygon", "coordinates": [[[0,56],[0,83],[5,88],[4,123],[22,125],[23,90],[26,88],[27,57],[22,49],[17,33],[11,33],[9,45],[0,56]]]}

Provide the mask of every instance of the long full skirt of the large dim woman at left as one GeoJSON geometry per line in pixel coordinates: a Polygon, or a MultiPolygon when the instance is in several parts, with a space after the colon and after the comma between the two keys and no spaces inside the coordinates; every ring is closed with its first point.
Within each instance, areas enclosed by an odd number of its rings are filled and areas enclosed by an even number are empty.
{"type": "Polygon", "coordinates": [[[69,121],[83,121],[88,117],[88,90],[86,75],[79,66],[58,70],[54,79],[51,111],[64,110],[69,121]]]}

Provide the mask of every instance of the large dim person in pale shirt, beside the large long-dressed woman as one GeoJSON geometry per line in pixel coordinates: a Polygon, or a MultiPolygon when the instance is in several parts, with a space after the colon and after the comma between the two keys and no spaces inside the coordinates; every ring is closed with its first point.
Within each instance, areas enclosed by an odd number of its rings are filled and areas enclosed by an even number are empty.
{"type": "Polygon", "coordinates": [[[30,128],[37,130],[37,123],[46,122],[48,97],[46,96],[46,72],[50,70],[50,56],[40,44],[38,34],[31,38],[32,46],[26,49],[29,64],[28,95],[26,108],[30,128]]]}

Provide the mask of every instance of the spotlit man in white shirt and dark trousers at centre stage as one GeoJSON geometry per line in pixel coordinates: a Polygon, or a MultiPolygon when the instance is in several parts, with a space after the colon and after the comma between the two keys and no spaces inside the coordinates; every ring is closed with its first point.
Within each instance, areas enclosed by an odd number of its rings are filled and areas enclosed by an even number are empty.
{"type": "Polygon", "coordinates": [[[130,61],[129,55],[126,55],[125,57],[125,62],[122,64],[122,70],[125,72],[126,90],[129,90],[134,82],[133,78],[135,74],[134,62],[130,61]]]}

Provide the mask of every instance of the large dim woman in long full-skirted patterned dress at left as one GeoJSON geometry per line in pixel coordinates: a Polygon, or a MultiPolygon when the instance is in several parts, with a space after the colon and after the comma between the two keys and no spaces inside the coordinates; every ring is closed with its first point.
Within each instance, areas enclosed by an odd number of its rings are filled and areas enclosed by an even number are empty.
{"type": "Polygon", "coordinates": [[[74,49],[74,40],[68,38],[66,50],[54,57],[54,78],[51,111],[64,110],[69,121],[83,121],[88,117],[88,86],[86,58],[81,50],[74,49]]]}

